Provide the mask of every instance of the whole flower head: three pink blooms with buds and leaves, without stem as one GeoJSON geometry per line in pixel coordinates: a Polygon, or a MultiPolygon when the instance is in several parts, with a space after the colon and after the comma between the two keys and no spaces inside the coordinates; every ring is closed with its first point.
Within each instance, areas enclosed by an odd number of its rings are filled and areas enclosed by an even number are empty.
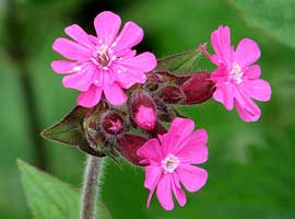
{"type": "Polygon", "coordinates": [[[133,46],[142,41],[142,28],[127,22],[119,32],[120,24],[117,14],[106,11],[94,20],[97,36],[73,24],[66,27],[72,41],[55,41],[54,50],[67,60],[55,60],[51,67],[64,74],[63,87],[81,94],[79,106],[44,136],[71,123],[78,130],[74,139],[73,134],[70,140],[66,135],[54,138],[50,134],[49,138],[75,145],[92,155],[108,155],[116,162],[122,157],[144,166],[148,206],[156,193],[163,208],[170,210],[173,194],[184,206],[184,188],[197,192],[208,180],[206,171],[193,165],[208,159],[208,134],[204,129],[194,131],[193,120],[180,115],[175,105],[201,104],[213,96],[228,111],[236,106],[243,120],[256,122],[261,113],[252,99],[269,101],[271,88],[260,79],[260,67],[255,65],[260,57],[258,45],[244,38],[234,50],[227,26],[211,35],[214,55],[200,45],[216,66],[213,72],[177,74],[169,65],[186,55],[158,64],[152,53],[137,55],[133,46]],[[168,130],[163,122],[170,123],[168,130]]]}

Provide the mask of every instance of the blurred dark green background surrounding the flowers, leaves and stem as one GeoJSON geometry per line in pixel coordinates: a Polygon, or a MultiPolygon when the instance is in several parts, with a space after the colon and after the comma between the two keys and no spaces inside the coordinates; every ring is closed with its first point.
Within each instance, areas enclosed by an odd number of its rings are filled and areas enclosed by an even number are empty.
{"type": "MultiPolygon", "coordinates": [[[[50,68],[50,61],[59,58],[51,49],[54,39],[64,36],[63,27],[72,23],[93,33],[93,19],[103,10],[139,23],[145,31],[139,50],[151,50],[157,57],[210,43],[213,30],[229,25],[234,45],[243,37],[259,43],[262,78],[270,81],[273,91],[270,102],[259,103],[262,116],[252,124],[241,122],[235,112],[226,112],[214,101],[180,108],[210,136],[210,158],[203,165],[209,171],[209,182],[200,192],[187,194],[184,208],[164,211],[154,198],[146,209],[143,171],[128,164],[119,170],[107,162],[102,199],[113,217],[295,218],[295,49],[261,28],[247,26],[233,2],[1,0],[0,218],[32,218],[16,158],[81,185],[85,154],[45,141],[38,132],[59,120],[75,104],[78,95],[63,89],[61,77],[50,68]]],[[[294,15],[295,9],[290,10],[294,15]]],[[[205,58],[197,68],[213,70],[205,58]]]]}

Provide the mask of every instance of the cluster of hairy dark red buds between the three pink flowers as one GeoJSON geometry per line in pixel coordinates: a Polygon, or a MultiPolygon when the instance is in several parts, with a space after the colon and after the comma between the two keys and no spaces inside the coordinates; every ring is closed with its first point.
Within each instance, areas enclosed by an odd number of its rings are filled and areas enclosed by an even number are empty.
{"type": "Polygon", "coordinates": [[[200,104],[213,92],[208,72],[176,76],[155,71],[149,74],[145,84],[130,89],[129,101],[121,107],[105,101],[97,104],[84,118],[86,139],[92,148],[105,154],[117,150],[131,163],[142,165],[137,150],[146,140],[167,131],[162,122],[170,123],[179,117],[174,106],[200,104]],[[131,127],[143,134],[134,134],[131,127]]]}

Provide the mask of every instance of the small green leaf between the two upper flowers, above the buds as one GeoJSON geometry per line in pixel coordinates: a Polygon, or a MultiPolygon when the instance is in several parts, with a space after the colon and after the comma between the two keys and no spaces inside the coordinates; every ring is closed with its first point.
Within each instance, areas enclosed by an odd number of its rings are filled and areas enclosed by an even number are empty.
{"type": "Polygon", "coordinates": [[[200,49],[192,49],[181,54],[167,56],[157,60],[157,67],[155,70],[167,70],[174,73],[188,73],[193,69],[193,66],[199,60],[200,56],[200,49]]]}

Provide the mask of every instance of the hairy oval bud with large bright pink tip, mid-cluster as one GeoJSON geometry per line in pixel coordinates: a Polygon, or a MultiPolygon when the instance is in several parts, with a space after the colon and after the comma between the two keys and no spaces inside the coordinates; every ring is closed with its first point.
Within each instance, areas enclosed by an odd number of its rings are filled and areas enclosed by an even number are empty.
{"type": "Polygon", "coordinates": [[[146,92],[137,91],[130,101],[130,114],[133,122],[144,130],[152,130],[156,124],[155,102],[146,92]]]}

